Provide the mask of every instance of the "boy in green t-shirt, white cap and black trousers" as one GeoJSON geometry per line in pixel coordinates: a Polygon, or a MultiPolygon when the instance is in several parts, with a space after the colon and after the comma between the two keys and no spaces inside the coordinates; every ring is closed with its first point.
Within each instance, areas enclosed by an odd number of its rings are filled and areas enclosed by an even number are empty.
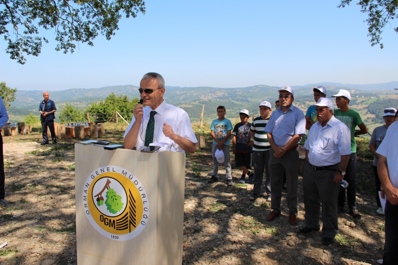
{"type": "MultiPolygon", "coordinates": [[[[334,110],[334,116],[339,119],[348,129],[351,131],[351,156],[348,162],[344,179],[348,182],[347,187],[347,203],[349,207],[349,213],[354,218],[361,218],[358,213],[356,205],[356,191],[355,191],[355,176],[357,175],[357,143],[355,136],[368,133],[368,129],[363,123],[361,116],[358,112],[350,109],[348,104],[350,103],[351,94],[349,91],[340,89],[340,91],[332,95],[336,98],[336,105],[339,109],[334,110]],[[356,127],[359,127],[359,131],[355,131],[356,127]]],[[[340,187],[339,195],[337,197],[337,209],[338,212],[344,211],[345,203],[345,188],[340,187]]]]}

